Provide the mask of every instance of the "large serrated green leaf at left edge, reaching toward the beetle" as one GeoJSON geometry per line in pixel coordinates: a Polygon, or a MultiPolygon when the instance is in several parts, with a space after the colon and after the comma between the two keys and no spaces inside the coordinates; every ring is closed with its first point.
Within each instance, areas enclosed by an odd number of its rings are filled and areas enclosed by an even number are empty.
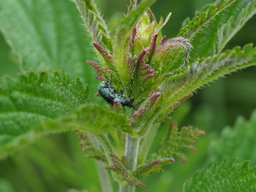
{"type": "Polygon", "coordinates": [[[0,158],[35,138],[39,121],[67,115],[88,103],[88,88],[64,72],[28,72],[0,86],[0,158]]]}

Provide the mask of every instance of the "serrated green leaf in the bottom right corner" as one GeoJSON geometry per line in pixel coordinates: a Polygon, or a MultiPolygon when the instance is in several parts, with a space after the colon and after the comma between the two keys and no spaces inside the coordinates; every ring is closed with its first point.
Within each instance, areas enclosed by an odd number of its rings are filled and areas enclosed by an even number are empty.
{"type": "Polygon", "coordinates": [[[255,171],[256,166],[250,167],[249,161],[236,164],[234,159],[229,159],[221,164],[214,163],[187,180],[183,191],[255,191],[255,171]]]}

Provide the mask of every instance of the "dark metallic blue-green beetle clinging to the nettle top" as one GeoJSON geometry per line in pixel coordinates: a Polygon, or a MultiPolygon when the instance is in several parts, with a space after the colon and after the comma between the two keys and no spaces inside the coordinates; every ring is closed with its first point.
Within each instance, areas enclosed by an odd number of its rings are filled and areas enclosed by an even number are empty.
{"type": "Polygon", "coordinates": [[[114,104],[114,100],[120,102],[122,106],[127,106],[129,108],[133,108],[136,110],[135,106],[140,104],[142,101],[138,102],[138,104],[133,105],[134,98],[131,97],[132,91],[129,94],[129,99],[126,99],[124,96],[124,90],[128,88],[132,88],[133,80],[131,79],[131,85],[126,88],[122,88],[119,91],[116,91],[115,88],[111,86],[112,79],[108,79],[108,81],[102,81],[99,83],[98,91],[99,94],[107,101],[109,104],[114,104]]]}

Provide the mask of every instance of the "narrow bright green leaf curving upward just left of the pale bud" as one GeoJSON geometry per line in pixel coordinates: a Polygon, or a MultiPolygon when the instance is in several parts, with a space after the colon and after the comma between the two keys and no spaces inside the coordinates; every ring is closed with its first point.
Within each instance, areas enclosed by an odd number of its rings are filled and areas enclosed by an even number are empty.
{"type": "Polygon", "coordinates": [[[124,85],[126,84],[124,81],[129,82],[130,79],[130,74],[127,73],[129,72],[127,65],[129,34],[143,13],[146,12],[146,9],[148,9],[154,1],[156,0],[141,1],[135,9],[132,9],[128,15],[121,19],[119,27],[117,28],[113,57],[116,59],[116,64],[118,64],[118,66],[116,66],[117,71],[124,85]]]}

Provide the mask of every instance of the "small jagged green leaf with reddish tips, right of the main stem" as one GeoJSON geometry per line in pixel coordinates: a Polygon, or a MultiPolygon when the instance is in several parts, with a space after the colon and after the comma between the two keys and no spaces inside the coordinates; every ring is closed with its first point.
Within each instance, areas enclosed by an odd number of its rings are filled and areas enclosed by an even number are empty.
{"type": "Polygon", "coordinates": [[[179,130],[176,123],[171,123],[158,153],[162,158],[176,156],[181,158],[183,163],[186,163],[187,158],[184,155],[184,150],[196,151],[192,144],[203,134],[206,133],[197,128],[192,128],[192,126],[182,127],[179,130]]]}

